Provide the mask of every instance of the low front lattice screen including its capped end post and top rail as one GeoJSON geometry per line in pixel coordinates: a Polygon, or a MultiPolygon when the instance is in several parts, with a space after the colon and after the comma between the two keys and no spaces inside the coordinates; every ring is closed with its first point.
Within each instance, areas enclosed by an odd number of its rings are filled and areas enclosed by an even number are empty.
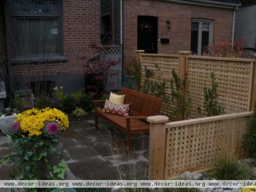
{"type": "MultiPolygon", "coordinates": [[[[252,114],[232,113],[164,124],[148,120],[149,179],[168,179],[185,171],[206,169],[221,153],[241,154],[243,134],[252,114]]],[[[157,122],[157,116],[148,117],[152,118],[157,122]]]]}

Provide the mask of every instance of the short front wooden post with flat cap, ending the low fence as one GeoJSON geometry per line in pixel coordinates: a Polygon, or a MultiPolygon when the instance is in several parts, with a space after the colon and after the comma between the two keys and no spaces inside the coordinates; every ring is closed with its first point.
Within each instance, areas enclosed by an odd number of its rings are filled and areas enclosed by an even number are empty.
{"type": "Polygon", "coordinates": [[[163,180],[166,154],[166,127],[165,123],[169,117],[157,115],[149,116],[150,122],[149,134],[149,180],[163,180]]]}

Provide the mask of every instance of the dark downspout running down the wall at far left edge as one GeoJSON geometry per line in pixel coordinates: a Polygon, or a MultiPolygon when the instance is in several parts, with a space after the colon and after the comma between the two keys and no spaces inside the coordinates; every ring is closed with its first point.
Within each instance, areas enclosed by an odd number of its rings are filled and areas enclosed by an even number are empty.
{"type": "Polygon", "coordinates": [[[7,23],[7,1],[5,0],[4,2],[4,21],[5,21],[5,36],[6,36],[6,59],[7,59],[7,81],[8,81],[8,87],[9,91],[11,91],[11,64],[10,64],[10,51],[9,51],[9,37],[8,37],[8,23],[7,23]]]}

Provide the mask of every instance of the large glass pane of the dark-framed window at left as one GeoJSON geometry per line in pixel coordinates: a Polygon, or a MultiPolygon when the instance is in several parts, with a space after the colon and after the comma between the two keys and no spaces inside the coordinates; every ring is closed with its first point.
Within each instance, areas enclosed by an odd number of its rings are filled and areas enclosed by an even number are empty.
{"type": "Polygon", "coordinates": [[[14,19],[17,55],[58,53],[58,19],[14,19]]]}

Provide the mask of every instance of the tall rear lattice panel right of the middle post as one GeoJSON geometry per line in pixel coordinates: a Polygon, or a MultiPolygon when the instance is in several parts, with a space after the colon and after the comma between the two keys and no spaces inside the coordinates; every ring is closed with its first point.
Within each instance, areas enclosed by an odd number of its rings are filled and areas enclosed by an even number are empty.
{"type": "Polygon", "coordinates": [[[191,98],[189,118],[198,117],[198,106],[204,111],[204,87],[211,86],[211,72],[215,73],[218,100],[224,106],[224,113],[249,111],[252,61],[196,56],[188,56],[187,59],[189,59],[187,73],[191,98]]]}

